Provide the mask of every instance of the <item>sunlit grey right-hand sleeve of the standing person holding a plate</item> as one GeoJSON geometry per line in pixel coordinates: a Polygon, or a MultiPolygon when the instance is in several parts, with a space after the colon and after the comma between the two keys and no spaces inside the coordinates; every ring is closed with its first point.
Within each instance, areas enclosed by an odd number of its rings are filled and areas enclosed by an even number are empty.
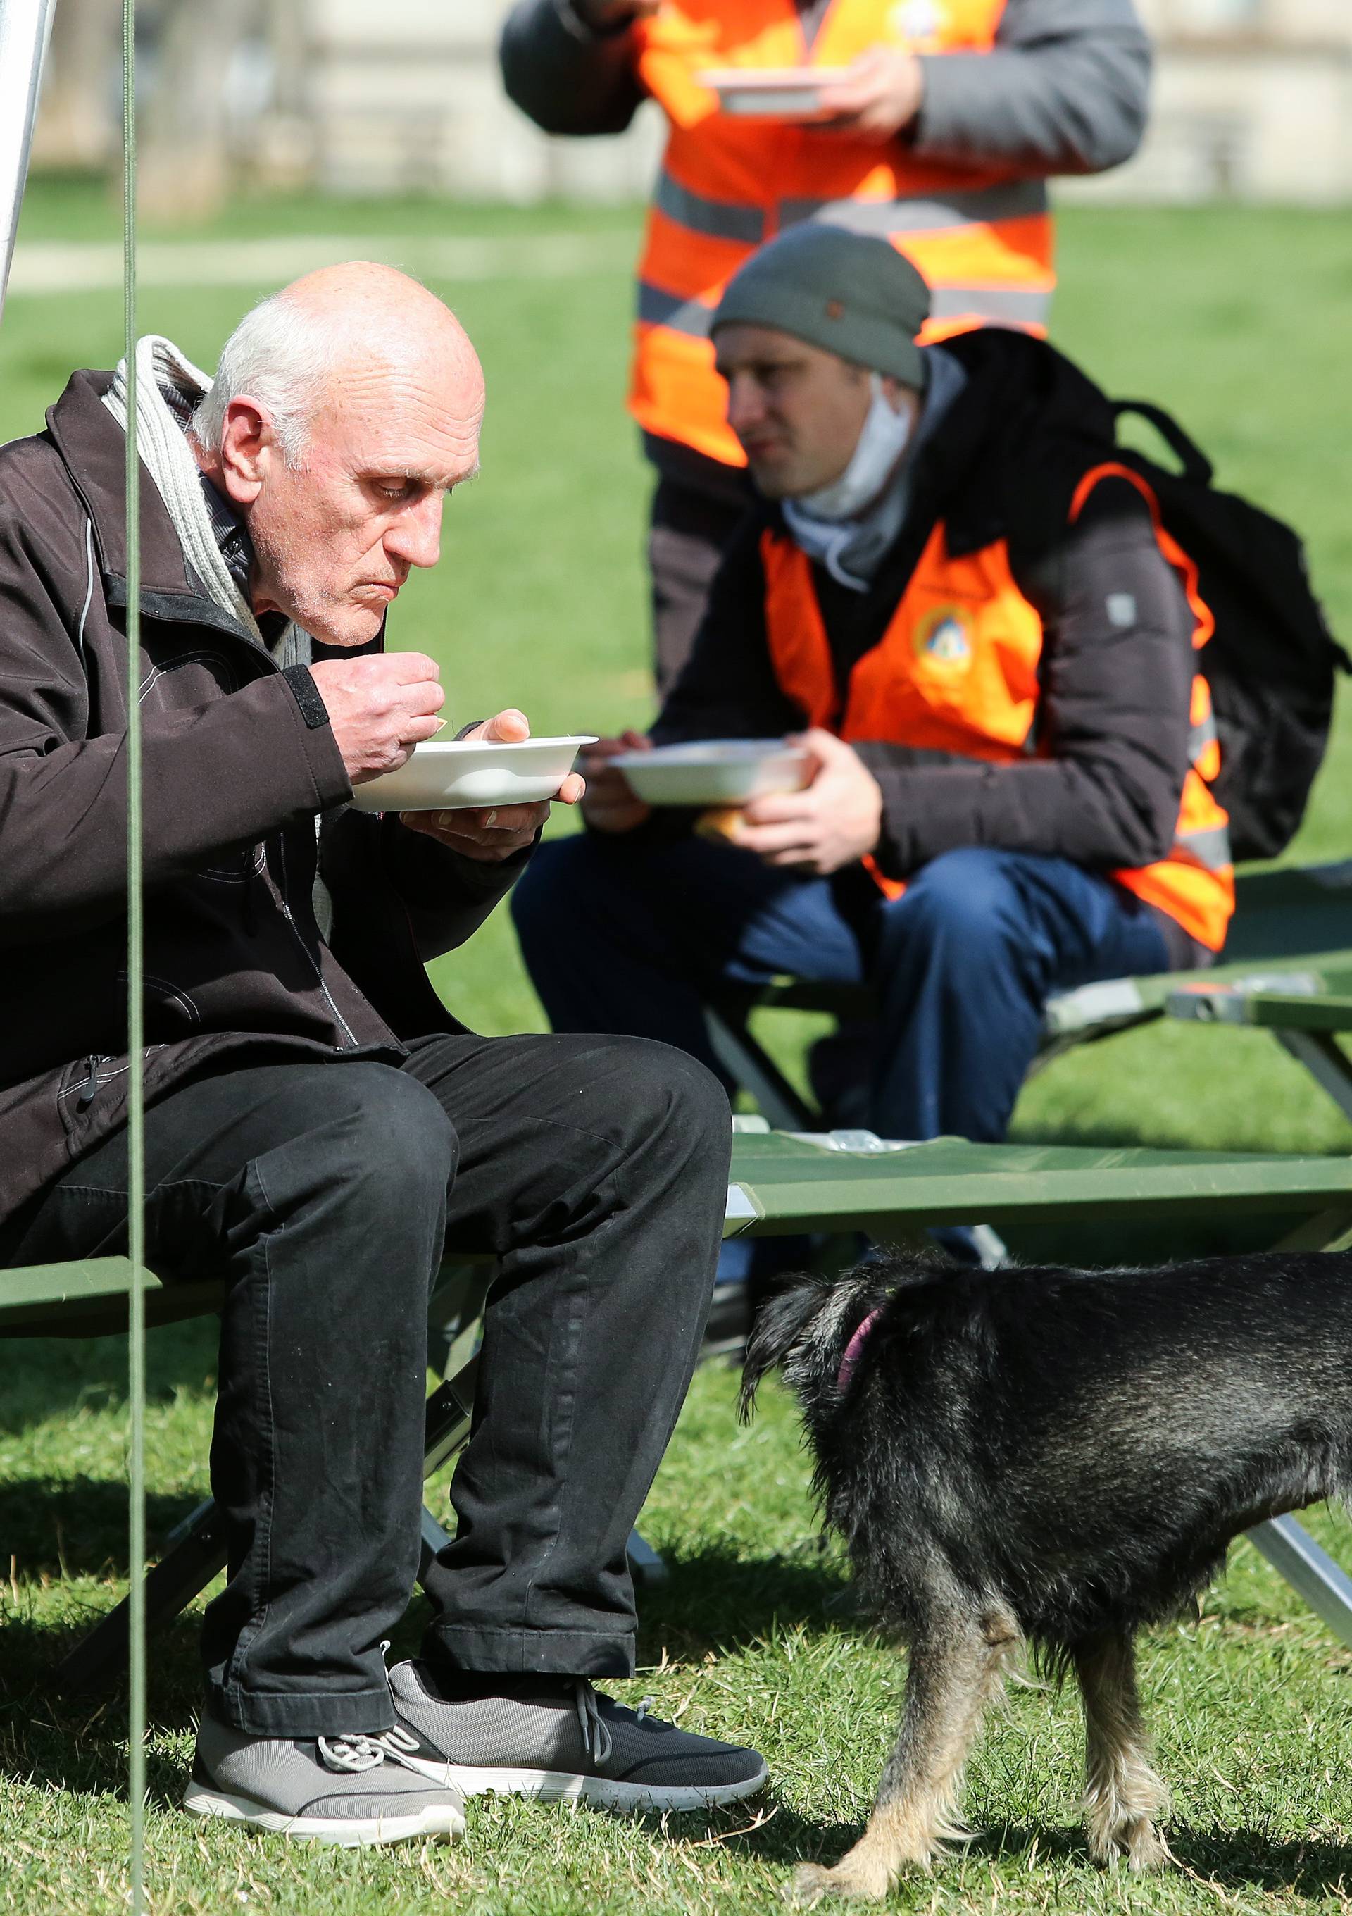
{"type": "Polygon", "coordinates": [[[1132,0],[1009,0],[990,54],[921,61],[921,159],[1103,172],[1141,142],[1151,42],[1132,0]]]}

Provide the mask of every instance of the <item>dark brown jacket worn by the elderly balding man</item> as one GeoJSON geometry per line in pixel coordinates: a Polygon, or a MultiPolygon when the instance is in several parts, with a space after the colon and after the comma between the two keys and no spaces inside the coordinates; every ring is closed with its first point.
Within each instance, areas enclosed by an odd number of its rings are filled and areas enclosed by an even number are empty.
{"type": "MultiPolygon", "coordinates": [[[[79,372],[0,448],[0,1220],[126,1117],[123,433],[79,372]]],[[[423,960],[521,868],[343,807],[308,674],[201,590],[142,469],[146,1090],[226,1056],[396,1061],[456,1029],[423,960]],[[308,692],[308,696],[306,696],[308,692]],[[308,717],[306,717],[308,715],[308,717]],[[333,937],[310,891],[316,812],[333,937]]]]}

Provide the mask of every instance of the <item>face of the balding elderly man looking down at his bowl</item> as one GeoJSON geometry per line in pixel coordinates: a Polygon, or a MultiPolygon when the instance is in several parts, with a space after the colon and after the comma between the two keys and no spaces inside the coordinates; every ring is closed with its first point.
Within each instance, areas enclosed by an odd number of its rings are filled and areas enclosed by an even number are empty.
{"type": "MultiPolygon", "coordinates": [[[[335,377],[299,468],[264,427],[253,448],[260,483],[241,500],[255,613],[282,611],[327,646],[375,638],[410,569],[440,556],[442,504],[477,469],[481,418],[477,360],[437,366],[429,354],[414,368],[372,364],[335,377]]],[[[230,433],[228,418],[226,469],[230,433]]]]}

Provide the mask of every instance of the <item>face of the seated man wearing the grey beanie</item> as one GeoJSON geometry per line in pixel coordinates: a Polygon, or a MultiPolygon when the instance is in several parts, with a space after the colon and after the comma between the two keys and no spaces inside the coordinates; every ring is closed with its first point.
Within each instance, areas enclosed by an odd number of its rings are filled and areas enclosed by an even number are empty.
{"type": "Polygon", "coordinates": [[[718,372],[728,423],[766,498],[833,485],[854,456],[869,410],[869,376],[774,326],[720,326],[718,372]]]}

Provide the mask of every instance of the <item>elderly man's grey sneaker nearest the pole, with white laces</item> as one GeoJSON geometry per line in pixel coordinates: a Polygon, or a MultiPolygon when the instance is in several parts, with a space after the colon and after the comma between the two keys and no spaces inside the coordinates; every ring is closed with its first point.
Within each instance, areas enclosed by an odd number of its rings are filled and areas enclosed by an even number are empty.
{"type": "Polygon", "coordinates": [[[416,1747],[398,1728],[306,1742],[245,1736],[203,1717],[184,1809],[343,1849],[460,1836],[463,1797],[446,1782],[429,1784],[427,1767],[410,1763],[416,1747]]]}

